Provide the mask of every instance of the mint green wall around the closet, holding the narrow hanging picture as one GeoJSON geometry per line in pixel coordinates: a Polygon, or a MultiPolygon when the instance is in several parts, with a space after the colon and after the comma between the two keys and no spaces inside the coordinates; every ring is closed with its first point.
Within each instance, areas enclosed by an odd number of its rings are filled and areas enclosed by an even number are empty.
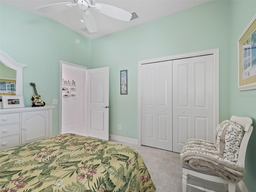
{"type": "Polygon", "coordinates": [[[92,40],[93,68],[110,67],[110,134],[137,139],[139,60],[212,48],[220,48],[220,121],[229,118],[229,25],[230,2],[214,1],[92,40]],[[123,68],[128,95],[120,95],[123,68]]]}

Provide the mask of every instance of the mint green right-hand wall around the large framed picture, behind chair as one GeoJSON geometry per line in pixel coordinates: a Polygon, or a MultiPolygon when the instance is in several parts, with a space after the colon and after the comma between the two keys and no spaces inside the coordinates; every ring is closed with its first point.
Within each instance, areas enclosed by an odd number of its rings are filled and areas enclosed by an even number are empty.
{"type": "Polygon", "coordinates": [[[256,1],[232,1],[230,10],[230,116],[249,116],[253,121],[244,177],[248,191],[252,192],[256,188],[256,90],[238,91],[237,40],[256,14],[256,1]]]}

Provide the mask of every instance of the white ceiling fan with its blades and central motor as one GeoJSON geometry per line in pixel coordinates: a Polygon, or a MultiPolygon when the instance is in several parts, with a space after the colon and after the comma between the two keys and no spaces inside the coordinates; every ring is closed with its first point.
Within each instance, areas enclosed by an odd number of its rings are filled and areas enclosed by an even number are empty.
{"type": "Polygon", "coordinates": [[[73,6],[78,6],[82,10],[81,22],[85,23],[86,28],[90,33],[97,32],[96,22],[89,10],[90,8],[94,8],[94,10],[104,15],[123,21],[130,21],[130,19],[132,18],[132,14],[127,12],[126,10],[122,10],[118,7],[114,7],[107,4],[96,3],[95,0],[73,0],[73,2],[74,4],[72,4],[71,2],[50,4],[36,8],[36,10],[45,14],[50,12],[66,10],[73,6]]]}

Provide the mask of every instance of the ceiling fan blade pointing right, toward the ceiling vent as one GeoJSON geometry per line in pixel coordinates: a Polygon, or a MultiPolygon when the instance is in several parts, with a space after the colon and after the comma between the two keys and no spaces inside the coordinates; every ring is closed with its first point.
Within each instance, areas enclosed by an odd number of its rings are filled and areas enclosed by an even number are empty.
{"type": "Polygon", "coordinates": [[[98,12],[115,19],[119,19],[122,21],[130,21],[132,18],[131,13],[129,13],[126,10],[120,9],[118,7],[114,7],[114,6],[102,4],[102,3],[95,3],[95,6],[96,6],[95,10],[97,10],[98,12]]]}

